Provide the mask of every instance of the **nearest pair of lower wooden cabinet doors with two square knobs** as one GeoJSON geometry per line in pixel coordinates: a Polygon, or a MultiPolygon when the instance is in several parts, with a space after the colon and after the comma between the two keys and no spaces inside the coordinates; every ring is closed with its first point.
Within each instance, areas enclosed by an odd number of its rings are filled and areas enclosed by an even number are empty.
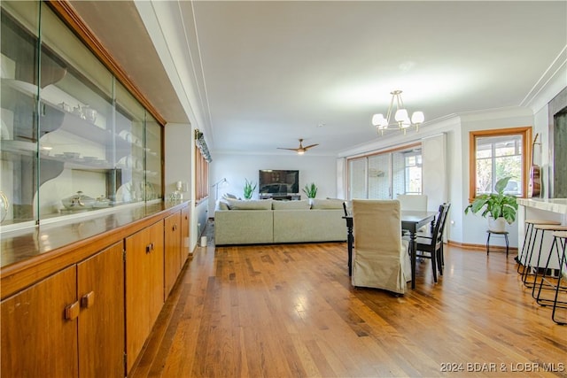
{"type": "Polygon", "coordinates": [[[2,301],[2,376],[124,376],[122,243],[2,301]]]}

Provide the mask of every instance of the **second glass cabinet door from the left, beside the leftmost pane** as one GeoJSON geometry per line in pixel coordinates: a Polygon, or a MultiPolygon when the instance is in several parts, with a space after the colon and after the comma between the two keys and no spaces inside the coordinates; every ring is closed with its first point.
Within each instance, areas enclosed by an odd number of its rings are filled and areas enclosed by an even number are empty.
{"type": "Polygon", "coordinates": [[[42,3],[39,216],[113,204],[113,75],[42,3]],[[43,81],[43,80],[42,80],[43,81]]]}

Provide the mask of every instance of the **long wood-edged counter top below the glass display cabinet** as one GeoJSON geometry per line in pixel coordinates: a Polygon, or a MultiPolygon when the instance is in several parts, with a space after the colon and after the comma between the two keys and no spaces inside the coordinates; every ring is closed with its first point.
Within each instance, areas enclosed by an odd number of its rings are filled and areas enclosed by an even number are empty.
{"type": "Polygon", "coordinates": [[[2,300],[114,243],[123,243],[128,236],[188,205],[189,202],[184,201],[141,204],[92,218],[53,222],[2,233],[2,300]]]}

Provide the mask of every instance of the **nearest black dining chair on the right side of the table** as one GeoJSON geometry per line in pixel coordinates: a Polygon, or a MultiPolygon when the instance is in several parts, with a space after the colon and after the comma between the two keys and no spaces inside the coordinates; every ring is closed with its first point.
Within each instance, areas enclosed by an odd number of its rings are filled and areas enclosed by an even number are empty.
{"type": "Polygon", "coordinates": [[[451,204],[439,205],[439,215],[435,220],[433,232],[430,235],[417,236],[417,258],[430,258],[431,269],[433,271],[433,281],[437,282],[437,272],[443,275],[443,266],[445,265],[445,256],[443,251],[443,232],[447,221],[447,215],[451,204]]]}

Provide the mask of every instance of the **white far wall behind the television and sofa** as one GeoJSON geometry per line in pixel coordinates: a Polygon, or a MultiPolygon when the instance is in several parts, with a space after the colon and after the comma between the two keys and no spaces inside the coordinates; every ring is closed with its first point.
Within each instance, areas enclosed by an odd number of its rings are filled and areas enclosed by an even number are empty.
{"type": "MultiPolygon", "coordinates": [[[[218,195],[231,193],[244,197],[245,179],[258,183],[260,169],[297,169],[299,170],[299,190],[306,184],[315,182],[317,198],[337,197],[337,158],[335,156],[317,156],[307,152],[298,155],[290,152],[283,155],[237,155],[212,153],[213,162],[209,171],[209,182],[213,185],[226,178],[226,185],[219,186],[218,195]]],[[[300,192],[301,198],[307,198],[300,192]]],[[[209,217],[214,217],[216,190],[209,190],[209,217]]],[[[258,188],[252,198],[258,198],[258,188]]]]}

